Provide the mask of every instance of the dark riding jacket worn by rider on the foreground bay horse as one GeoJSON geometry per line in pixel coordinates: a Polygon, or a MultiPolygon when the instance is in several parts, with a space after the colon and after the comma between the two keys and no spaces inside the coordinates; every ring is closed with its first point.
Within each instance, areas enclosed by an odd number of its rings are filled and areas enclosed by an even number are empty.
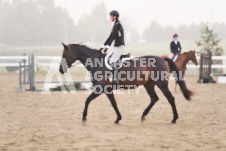
{"type": "Polygon", "coordinates": [[[111,43],[115,40],[115,47],[125,45],[124,42],[124,31],[122,25],[119,21],[115,21],[114,26],[112,28],[111,34],[104,43],[104,45],[111,45],[111,43]]]}

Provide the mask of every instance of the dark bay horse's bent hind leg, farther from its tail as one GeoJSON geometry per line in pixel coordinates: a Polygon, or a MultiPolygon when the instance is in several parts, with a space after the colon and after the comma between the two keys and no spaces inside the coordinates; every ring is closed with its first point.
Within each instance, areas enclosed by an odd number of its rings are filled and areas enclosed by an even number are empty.
{"type": "Polygon", "coordinates": [[[141,117],[141,121],[145,120],[145,116],[149,113],[149,111],[151,110],[151,108],[153,107],[153,105],[159,100],[155,89],[154,89],[155,83],[154,81],[149,81],[148,83],[146,83],[144,85],[148,95],[151,98],[151,103],[148,105],[148,107],[144,110],[143,115],[141,117]]]}

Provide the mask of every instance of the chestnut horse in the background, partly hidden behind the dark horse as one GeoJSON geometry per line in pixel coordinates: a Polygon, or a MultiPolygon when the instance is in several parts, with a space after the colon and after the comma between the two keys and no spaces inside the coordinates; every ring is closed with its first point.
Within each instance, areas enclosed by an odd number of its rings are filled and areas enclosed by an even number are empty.
{"type": "MultiPolygon", "coordinates": [[[[169,55],[163,55],[163,58],[169,58],[169,55]]],[[[190,50],[188,52],[184,52],[180,54],[175,61],[175,64],[179,71],[182,72],[182,77],[184,77],[185,71],[187,69],[186,65],[189,61],[192,61],[195,65],[198,65],[198,61],[196,58],[196,51],[190,50]]],[[[177,82],[175,83],[175,91],[177,90],[177,82]]]]}

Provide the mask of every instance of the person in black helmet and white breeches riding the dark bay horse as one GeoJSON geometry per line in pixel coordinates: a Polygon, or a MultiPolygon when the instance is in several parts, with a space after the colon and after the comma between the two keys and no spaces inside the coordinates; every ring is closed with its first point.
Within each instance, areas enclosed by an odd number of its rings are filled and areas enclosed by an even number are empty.
{"type": "Polygon", "coordinates": [[[123,31],[123,27],[122,27],[120,21],[118,20],[118,18],[119,18],[118,11],[113,10],[110,12],[110,20],[112,22],[114,22],[114,26],[113,26],[110,36],[108,37],[108,39],[106,40],[106,42],[100,49],[100,51],[102,49],[104,49],[104,52],[106,52],[107,49],[110,47],[111,43],[115,40],[115,45],[114,45],[115,50],[110,59],[110,64],[112,64],[112,67],[114,70],[114,75],[115,75],[114,82],[116,82],[117,84],[119,83],[119,80],[118,80],[118,67],[116,65],[116,62],[118,61],[121,54],[123,53],[124,46],[125,46],[124,31],[123,31]]]}

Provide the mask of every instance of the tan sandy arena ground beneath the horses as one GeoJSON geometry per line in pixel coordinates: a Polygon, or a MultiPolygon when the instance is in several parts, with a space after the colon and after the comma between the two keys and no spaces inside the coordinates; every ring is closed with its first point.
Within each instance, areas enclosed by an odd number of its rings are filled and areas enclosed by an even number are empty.
{"type": "MultiPolygon", "coordinates": [[[[36,80],[45,75],[38,74],[36,80]]],[[[226,150],[226,85],[197,84],[187,77],[195,92],[190,102],[170,89],[176,98],[179,119],[171,124],[173,113],[163,94],[141,123],[142,112],[150,102],[142,87],[140,94],[115,95],[122,120],[113,124],[116,114],[105,95],[91,102],[88,121],[82,111],[88,94],[15,91],[18,74],[0,75],[0,151],[38,150],[226,150]]],[[[127,91],[123,91],[127,93],[127,91]]]]}

